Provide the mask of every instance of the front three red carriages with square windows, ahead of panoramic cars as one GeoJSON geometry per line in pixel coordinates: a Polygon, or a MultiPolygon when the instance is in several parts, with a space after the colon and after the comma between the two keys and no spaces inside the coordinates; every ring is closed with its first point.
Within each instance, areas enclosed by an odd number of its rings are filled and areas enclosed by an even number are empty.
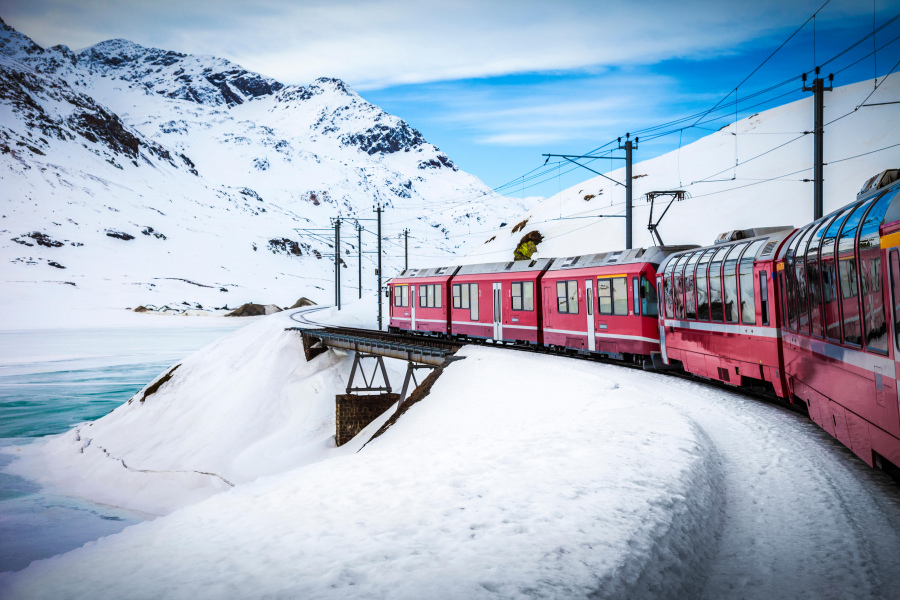
{"type": "Polygon", "coordinates": [[[692,247],[408,269],[389,328],[641,361],[659,350],[656,268],[692,247]]]}

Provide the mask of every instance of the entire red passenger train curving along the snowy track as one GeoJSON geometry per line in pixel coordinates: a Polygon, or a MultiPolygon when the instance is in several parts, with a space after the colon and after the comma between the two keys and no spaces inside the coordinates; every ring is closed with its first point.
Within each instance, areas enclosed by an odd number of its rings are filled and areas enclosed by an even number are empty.
{"type": "Polygon", "coordinates": [[[799,229],[408,270],[388,286],[392,330],[643,361],[765,390],[900,474],[900,169],[799,229]]]}

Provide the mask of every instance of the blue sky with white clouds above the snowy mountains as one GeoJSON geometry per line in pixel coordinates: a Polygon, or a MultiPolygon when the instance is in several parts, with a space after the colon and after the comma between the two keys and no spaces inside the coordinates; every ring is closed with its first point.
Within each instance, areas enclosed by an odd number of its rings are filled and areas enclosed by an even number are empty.
{"type": "MultiPolygon", "coordinates": [[[[44,46],[77,49],[126,38],[220,56],[287,84],[339,77],[497,187],[539,166],[542,153],[585,153],[626,132],[712,107],[823,4],[0,0],[0,16],[44,46]]],[[[739,89],[739,98],[811,69],[898,13],[900,0],[829,0],[814,23],[739,89]]],[[[874,46],[866,41],[826,72],[897,36],[900,20],[879,32],[874,46]]],[[[879,76],[898,60],[900,41],[880,50],[879,76]]],[[[869,57],[839,73],[835,84],[875,72],[869,57]]],[[[800,99],[799,87],[793,82],[739,102],[738,117],[800,99]]],[[[718,129],[734,112],[713,116],[722,118],[704,127],[718,129]]],[[[651,158],[708,133],[692,128],[643,143],[635,157],[651,158]]],[[[592,176],[566,170],[515,193],[547,196],[592,176]]]]}

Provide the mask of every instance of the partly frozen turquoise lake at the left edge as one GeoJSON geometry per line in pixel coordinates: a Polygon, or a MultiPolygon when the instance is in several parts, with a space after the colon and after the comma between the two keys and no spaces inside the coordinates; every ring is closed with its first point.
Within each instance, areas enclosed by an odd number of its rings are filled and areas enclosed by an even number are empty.
{"type": "MultiPolygon", "coordinates": [[[[246,323],[0,331],[0,446],[103,416],[173,363],[246,323]]],[[[0,455],[0,470],[11,460],[0,455]]],[[[0,472],[0,572],[149,518],[0,472]]]]}

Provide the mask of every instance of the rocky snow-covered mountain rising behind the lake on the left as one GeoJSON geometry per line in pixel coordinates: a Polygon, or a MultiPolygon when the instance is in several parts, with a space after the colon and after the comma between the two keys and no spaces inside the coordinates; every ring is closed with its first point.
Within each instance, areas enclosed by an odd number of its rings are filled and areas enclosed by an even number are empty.
{"type": "MultiPolygon", "coordinates": [[[[385,276],[402,268],[404,228],[412,264],[448,262],[451,233],[527,208],[340,80],[286,86],[125,40],[45,49],[2,21],[0,152],[0,327],[47,324],[48,310],[84,323],[87,307],[328,302],[337,216],[355,297],[353,220],[374,252],[362,219],[376,203],[385,276]]],[[[363,263],[374,289],[375,257],[363,263]]]]}

